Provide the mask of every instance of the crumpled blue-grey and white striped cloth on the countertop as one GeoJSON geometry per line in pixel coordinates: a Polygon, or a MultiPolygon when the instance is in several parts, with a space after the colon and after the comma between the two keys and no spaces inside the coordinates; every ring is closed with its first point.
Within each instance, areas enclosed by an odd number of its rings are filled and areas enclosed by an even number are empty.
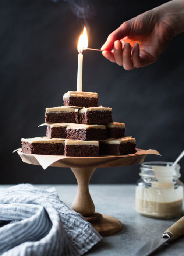
{"type": "Polygon", "coordinates": [[[0,188],[0,255],[78,256],[102,239],[56,189],[31,184],[0,188]]]}

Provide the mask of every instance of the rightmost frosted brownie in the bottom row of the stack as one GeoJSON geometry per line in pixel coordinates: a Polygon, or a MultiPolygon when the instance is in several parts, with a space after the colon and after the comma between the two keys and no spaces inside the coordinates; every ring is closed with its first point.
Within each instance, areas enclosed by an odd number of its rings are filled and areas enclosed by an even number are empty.
{"type": "Polygon", "coordinates": [[[137,152],[135,138],[132,137],[101,140],[99,147],[102,155],[128,155],[137,152]]]}

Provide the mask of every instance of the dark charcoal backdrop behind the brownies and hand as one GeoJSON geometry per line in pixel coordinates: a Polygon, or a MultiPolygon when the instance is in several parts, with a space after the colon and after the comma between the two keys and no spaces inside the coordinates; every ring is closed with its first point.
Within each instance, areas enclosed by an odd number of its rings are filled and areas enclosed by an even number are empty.
{"type": "MultiPolygon", "coordinates": [[[[84,2],[84,1],[83,1],[84,2]]],[[[45,136],[45,108],[62,106],[77,89],[77,42],[87,22],[89,48],[129,20],[166,1],[88,1],[91,19],[77,17],[71,1],[7,0],[0,3],[1,179],[0,183],[76,183],[70,168],[25,164],[17,153],[21,138],[45,136]],[[95,14],[95,15],[94,15],[95,14]]],[[[112,107],[114,122],[124,122],[137,147],[156,149],[174,161],[184,149],[184,33],[159,60],[126,71],[100,52],[84,52],[83,91],[98,92],[99,104],[112,107]]],[[[184,159],[180,161],[184,180],[184,159]]],[[[139,165],[98,168],[91,183],[135,183],[139,165]]]]}

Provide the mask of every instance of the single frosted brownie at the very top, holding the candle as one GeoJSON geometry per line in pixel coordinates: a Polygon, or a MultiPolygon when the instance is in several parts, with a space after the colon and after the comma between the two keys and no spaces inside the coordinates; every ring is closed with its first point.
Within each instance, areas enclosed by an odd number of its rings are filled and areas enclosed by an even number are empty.
{"type": "Polygon", "coordinates": [[[68,91],[63,96],[64,106],[76,107],[97,107],[98,94],[96,92],[71,92],[68,91]]]}

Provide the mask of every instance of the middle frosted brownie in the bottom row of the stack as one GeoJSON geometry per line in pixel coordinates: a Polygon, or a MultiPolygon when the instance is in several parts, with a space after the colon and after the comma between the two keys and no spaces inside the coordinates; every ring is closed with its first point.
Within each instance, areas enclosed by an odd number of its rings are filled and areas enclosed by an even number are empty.
{"type": "Polygon", "coordinates": [[[98,157],[99,143],[96,140],[65,140],[64,155],[66,157],[98,157]]]}

